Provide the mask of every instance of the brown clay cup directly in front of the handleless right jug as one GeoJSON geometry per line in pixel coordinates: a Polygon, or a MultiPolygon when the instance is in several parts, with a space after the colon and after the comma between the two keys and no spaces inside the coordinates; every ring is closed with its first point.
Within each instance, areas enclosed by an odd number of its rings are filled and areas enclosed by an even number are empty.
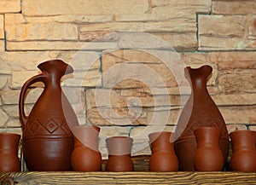
{"type": "Polygon", "coordinates": [[[197,143],[195,171],[221,171],[224,167],[224,156],[219,147],[221,130],[217,127],[201,127],[194,133],[197,143]]]}

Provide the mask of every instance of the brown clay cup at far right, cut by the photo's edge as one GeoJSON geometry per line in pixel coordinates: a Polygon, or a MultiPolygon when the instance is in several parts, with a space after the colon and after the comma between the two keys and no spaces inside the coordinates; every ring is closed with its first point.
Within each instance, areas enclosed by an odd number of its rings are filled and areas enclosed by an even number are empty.
{"type": "Polygon", "coordinates": [[[233,153],[231,171],[256,172],[256,131],[236,130],[230,133],[233,153]]]}

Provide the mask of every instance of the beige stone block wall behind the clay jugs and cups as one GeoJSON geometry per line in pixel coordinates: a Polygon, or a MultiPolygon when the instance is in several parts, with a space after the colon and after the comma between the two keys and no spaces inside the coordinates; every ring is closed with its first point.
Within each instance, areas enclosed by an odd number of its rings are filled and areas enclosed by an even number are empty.
{"type": "MultiPolygon", "coordinates": [[[[62,86],[80,124],[100,125],[102,136],[130,135],[143,148],[154,116],[151,130],[173,130],[189,95],[177,84],[183,66],[204,64],[213,68],[207,88],[228,130],[256,130],[255,13],[254,0],[2,0],[0,131],[21,133],[20,88],[40,62],[56,58],[75,70],[62,86]],[[172,54],[182,65],[166,65],[172,54]],[[143,76],[145,69],[156,75],[143,76]]],[[[41,92],[27,95],[26,113],[41,92]]]]}

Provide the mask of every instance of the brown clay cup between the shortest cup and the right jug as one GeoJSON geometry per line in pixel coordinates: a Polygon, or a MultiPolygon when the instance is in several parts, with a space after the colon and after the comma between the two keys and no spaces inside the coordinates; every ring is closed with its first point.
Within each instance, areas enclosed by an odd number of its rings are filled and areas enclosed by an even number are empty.
{"type": "Polygon", "coordinates": [[[170,142],[172,132],[154,132],[148,135],[152,154],[149,159],[149,171],[177,171],[178,161],[174,143],[170,142]]]}

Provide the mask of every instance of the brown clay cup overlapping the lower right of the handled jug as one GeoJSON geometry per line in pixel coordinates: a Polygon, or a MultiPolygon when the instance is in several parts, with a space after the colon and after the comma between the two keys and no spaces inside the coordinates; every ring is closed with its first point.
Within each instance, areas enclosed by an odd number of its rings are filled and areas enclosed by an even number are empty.
{"type": "Polygon", "coordinates": [[[101,171],[102,154],[98,150],[100,130],[100,127],[92,125],[73,127],[73,171],[101,171]]]}

